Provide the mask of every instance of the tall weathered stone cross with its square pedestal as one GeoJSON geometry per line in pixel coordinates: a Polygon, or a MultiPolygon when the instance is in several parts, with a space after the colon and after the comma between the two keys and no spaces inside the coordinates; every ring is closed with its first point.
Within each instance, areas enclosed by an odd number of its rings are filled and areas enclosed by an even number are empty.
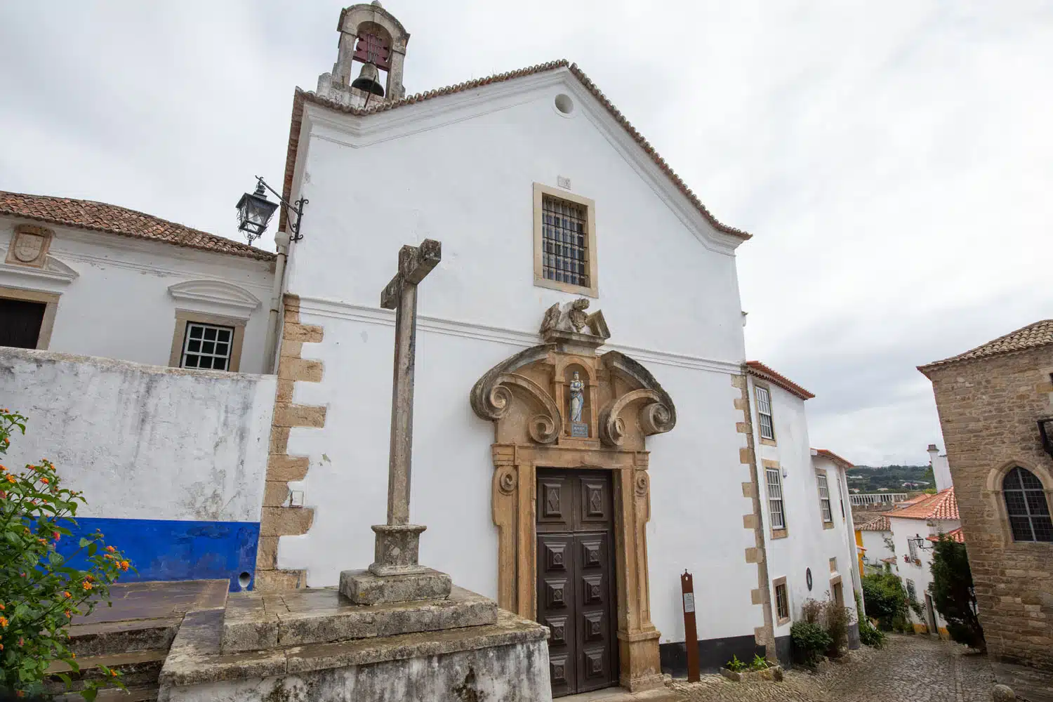
{"type": "Polygon", "coordinates": [[[340,591],[356,604],[444,599],[450,596],[450,576],[418,562],[420,534],[428,527],[410,523],[417,285],[441,259],[442,245],[438,241],[425,239],[420,246],[403,246],[398,255],[398,273],[380,294],[380,306],[395,310],[388,523],[373,527],[376,547],[374,562],[369,569],[340,574],[340,591]]]}

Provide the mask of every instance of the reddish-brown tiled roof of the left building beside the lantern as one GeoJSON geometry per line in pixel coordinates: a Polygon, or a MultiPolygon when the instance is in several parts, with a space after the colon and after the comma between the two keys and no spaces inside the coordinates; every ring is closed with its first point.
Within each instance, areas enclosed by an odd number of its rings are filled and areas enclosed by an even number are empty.
{"type": "Polygon", "coordinates": [[[260,261],[273,261],[275,255],[232,239],[193,229],[160,217],[127,207],[75,200],[49,195],[26,195],[0,190],[0,215],[61,224],[93,232],[106,232],[123,237],[161,241],[176,246],[197,248],[217,254],[230,254],[260,261]]]}

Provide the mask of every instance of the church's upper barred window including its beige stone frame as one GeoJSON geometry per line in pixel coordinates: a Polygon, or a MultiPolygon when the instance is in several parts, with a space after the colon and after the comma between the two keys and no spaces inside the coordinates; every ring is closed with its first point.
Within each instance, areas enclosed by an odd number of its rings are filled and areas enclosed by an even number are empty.
{"type": "Polygon", "coordinates": [[[597,297],[595,203],[534,183],[534,284],[597,297]]]}

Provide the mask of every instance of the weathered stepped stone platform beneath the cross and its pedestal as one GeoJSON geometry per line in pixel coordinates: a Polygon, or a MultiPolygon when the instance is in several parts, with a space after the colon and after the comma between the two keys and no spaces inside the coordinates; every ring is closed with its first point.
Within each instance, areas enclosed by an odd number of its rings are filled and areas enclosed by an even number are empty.
{"type": "Polygon", "coordinates": [[[533,702],[551,695],[548,629],[460,588],[451,601],[374,606],[350,604],[330,589],[238,594],[229,600],[230,626],[223,614],[183,619],[161,670],[159,700],[533,702]],[[490,623],[457,626],[457,617],[490,623]],[[438,630],[443,621],[453,628],[438,630]],[[379,635],[411,622],[434,628],[379,635]],[[262,633],[256,639],[254,623],[262,633]],[[350,634],[361,637],[334,640],[350,634]],[[231,650],[273,635],[276,645],[231,650]],[[283,637],[297,643],[283,646],[283,637]]]}

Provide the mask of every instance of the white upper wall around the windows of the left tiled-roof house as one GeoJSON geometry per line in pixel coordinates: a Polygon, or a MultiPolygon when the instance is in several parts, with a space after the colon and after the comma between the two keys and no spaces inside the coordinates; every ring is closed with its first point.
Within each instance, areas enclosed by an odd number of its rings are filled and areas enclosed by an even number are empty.
{"type": "MultiPolygon", "coordinates": [[[[16,224],[0,218],[0,261],[16,224]]],[[[0,265],[0,286],[58,293],[48,350],[167,365],[176,309],[235,316],[245,313],[200,300],[176,300],[168,286],[220,280],[260,300],[245,325],[242,373],[262,373],[273,285],[272,262],[201,252],[153,241],[43,224],[55,232],[49,255],[77,273],[73,281],[32,276],[25,266],[0,265]]]]}

